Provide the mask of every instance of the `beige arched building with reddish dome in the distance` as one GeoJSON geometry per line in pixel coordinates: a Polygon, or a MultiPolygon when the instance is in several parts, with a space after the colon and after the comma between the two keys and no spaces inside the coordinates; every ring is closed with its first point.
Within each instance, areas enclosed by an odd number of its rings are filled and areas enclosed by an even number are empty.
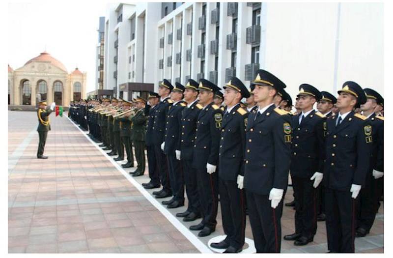
{"type": "Polygon", "coordinates": [[[43,52],[13,70],[8,65],[8,105],[35,106],[46,99],[48,104],[68,106],[71,100],[86,95],[86,73],[78,67],[68,73],[64,64],[43,52]]]}

